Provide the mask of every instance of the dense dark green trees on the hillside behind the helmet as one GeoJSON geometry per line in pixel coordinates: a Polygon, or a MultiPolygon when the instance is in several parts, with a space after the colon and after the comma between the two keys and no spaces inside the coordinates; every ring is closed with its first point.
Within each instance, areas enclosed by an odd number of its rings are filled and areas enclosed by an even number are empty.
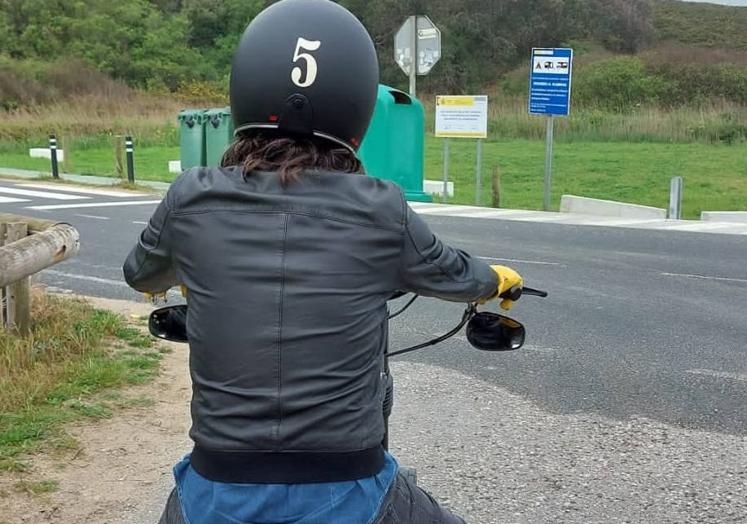
{"type": "MultiPolygon", "coordinates": [[[[36,61],[74,58],[140,88],[224,85],[233,49],[265,0],[0,0],[0,50],[31,73],[36,61]],[[26,62],[28,61],[28,62],[26,62]]],[[[652,33],[649,0],[341,0],[379,47],[383,79],[399,82],[392,36],[428,12],[450,43],[429,77],[449,90],[481,85],[515,67],[533,45],[593,38],[636,51],[652,33]],[[500,36],[497,36],[500,35],[500,36]],[[486,68],[484,64],[492,67],[486,68]]],[[[21,82],[27,82],[26,78],[21,82]]],[[[0,98],[6,98],[3,95],[0,98]]],[[[8,104],[7,100],[4,102],[8,104]]]]}

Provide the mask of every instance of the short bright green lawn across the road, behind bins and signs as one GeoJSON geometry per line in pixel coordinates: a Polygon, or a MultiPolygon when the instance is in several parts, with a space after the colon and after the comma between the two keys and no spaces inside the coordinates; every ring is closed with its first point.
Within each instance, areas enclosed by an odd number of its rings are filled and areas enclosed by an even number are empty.
{"type": "MultiPolygon", "coordinates": [[[[502,207],[540,209],[544,177],[544,140],[491,139],[484,144],[483,198],[489,205],[490,175],[501,171],[502,207]]],[[[475,203],[475,142],[451,141],[450,178],[456,184],[454,203],[475,203]]],[[[669,181],[685,180],[685,218],[697,219],[701,211],[747,209],[747,144],[665,142],[564,141],[555,144],[553,206],[560,196],[573,194],[665,208],[669,181]]],[[[136,156],[138,179],[171,181],[169,160],[179,158],[179,149],[141,148],[136,156]]],[[[90,149],[76,154],[75,167],[82,172],[110,174],[113,154],[90,149]]],[[[22,154],[0,153],[0,166],[42,169],[45,160],[22,154]]],[[[443,140],[426,138],[425,175],[440,180],[443,173],[443,140]]]]}

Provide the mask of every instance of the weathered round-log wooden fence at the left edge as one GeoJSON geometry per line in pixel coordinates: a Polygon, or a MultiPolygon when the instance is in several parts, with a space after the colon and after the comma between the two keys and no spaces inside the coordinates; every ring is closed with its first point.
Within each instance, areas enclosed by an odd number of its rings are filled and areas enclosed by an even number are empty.
{"type": "Polygon", "coordinates": [[[31,275],[79,250],[80,235],[70,224],[0,213],[0,326],[27,333],[31,275]]]}

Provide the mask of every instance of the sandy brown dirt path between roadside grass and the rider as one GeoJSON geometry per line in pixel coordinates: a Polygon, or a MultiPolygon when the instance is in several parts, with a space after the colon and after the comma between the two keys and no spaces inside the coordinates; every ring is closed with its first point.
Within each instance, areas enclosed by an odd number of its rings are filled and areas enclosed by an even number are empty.
{"type": "MultiPolygon", "coordinates": [[[[92,302],[126,316],[152,309],[135,302],[92,302]]],[[[79,451],[61,457],[39,455],[30,472],[0,475],[0,524],[158,521],[171,489],[171,467],[190,448],[187,351],[183,345],[172,348],[154,382],[125,392],[153,399],[152,406],[73,426],[69,432],[80,442],[79,451]],[[14,486],[24,479],[56,480],[60,489],[47,495],[18,493],[14,486]]]]}

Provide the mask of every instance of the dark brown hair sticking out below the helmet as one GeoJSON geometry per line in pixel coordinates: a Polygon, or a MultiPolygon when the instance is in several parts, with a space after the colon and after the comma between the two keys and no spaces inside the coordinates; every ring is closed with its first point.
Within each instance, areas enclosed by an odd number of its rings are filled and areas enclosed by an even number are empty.
{"type": "Polygon", "coordinates": [[[223,154],[221,166],[241,166],[244,178],[252,171],[277,171],[283,185],[298,180],[305,170],[363,173],[355,153],[334,142],[272,131],[239,133],[223,154]]]}

